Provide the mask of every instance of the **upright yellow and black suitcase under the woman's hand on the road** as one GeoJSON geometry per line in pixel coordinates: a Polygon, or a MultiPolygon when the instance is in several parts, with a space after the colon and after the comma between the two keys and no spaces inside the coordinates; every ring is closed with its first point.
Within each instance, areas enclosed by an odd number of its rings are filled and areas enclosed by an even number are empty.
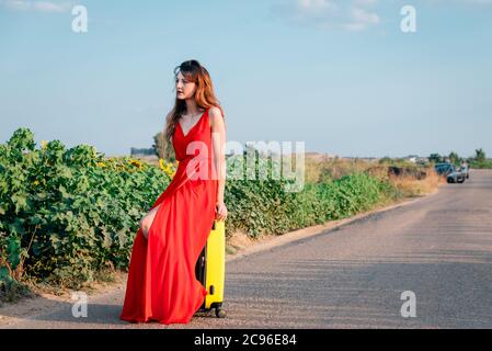
{"type": "Polygon", "coordinates": [[[222,303],[226,279],[226,224],[224,220],[214,220],[207,242],[196,261],[195,273],[196,279],[208,292],[199,309],[208,312],[215,308],[215,315],[218,318],[225,318],[222,303]]]}

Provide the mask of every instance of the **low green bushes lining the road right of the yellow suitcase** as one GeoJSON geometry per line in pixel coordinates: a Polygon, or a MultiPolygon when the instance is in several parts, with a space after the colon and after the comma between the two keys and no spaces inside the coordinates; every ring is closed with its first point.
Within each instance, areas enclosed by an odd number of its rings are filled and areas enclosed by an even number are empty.
{"type": "MultiPolygon", "coordinates": [[[[228,161],[228,167],[232,163],[228,161]]],[[[341,178],[307,183],[301,192],[286,192],[285,180],[226,183],[229,210],[227,234],[242,230],[251,237],[341,219],[393,201],[401,193],[390,182],[356,171],[341,178]]]]}

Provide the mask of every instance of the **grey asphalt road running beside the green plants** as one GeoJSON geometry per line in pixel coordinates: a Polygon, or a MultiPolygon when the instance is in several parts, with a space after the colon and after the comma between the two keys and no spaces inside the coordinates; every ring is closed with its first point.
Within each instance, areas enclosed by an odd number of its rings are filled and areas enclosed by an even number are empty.
{"type": "Polygon", "coordinates": [[[227,262],[227,318],[118,320],[124,290],[9,328],[492,328],[492,171],[465,184],[227,262]],[[415,317],[402,317],[414,294],[415,317]]]}

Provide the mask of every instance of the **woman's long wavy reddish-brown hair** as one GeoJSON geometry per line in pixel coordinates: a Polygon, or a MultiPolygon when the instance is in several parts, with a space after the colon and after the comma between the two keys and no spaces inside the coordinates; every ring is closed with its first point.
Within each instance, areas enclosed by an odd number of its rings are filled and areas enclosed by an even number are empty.
{"type": "MultiPolygon", "coordinates": [[[[210,75],[207,69],[203,67],[197,60],[192,59],[184,61],[176,68],[174,68],[174,78],[178,78],[178,73],[181,73],[186,78],[187,81],[193,81],[197,84],[195,91],[196,104],[201,109],[209,109],[211,106],[217,106],[224,114],[224,110],[220,106],[219,101],[215,97],[214,86],[211,83],[210,75]]],[[[169,145],[172,135],[176,128],[176,123],[181,118],[181,115],[186,113],[186,102],[184,100],[175,99],[174,107],[168,113],[165,118],[165,141],[169,145]]]]}

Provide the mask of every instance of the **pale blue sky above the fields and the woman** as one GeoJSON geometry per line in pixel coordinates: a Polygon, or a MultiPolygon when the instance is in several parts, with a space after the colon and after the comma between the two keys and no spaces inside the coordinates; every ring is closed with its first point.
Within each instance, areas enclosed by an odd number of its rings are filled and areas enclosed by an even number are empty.
{"type": "Polygon", "coordinates": [[[198,59],[228,139],[341,156],[492,156],[492,0],[0,0],[0,143],[150,147],[198,59]],[[88,33],[71,9],[88,10],[88,33]],[[400,10],[416,10],[416,33],[400,10]]]}

